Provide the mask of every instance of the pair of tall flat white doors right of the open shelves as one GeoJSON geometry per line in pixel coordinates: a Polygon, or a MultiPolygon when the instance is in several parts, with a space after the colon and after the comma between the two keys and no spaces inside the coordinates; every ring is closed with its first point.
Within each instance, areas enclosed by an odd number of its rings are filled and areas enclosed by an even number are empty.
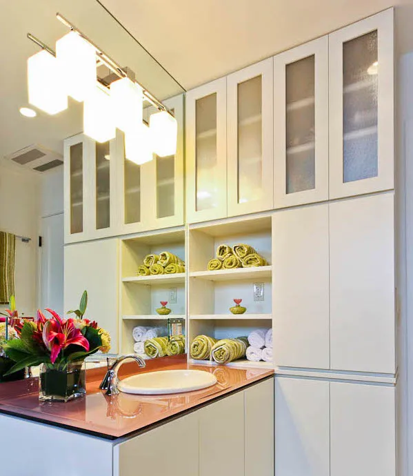
{"type": "Polygon", "coordinates": [[[273,219],[275,364],[394,373],[392,192],[273,219]]]}

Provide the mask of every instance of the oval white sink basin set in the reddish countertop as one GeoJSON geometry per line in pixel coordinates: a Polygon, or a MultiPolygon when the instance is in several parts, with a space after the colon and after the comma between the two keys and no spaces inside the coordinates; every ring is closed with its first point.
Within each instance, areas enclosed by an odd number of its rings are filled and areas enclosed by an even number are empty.
{"type": "Polygon", "coordinates": [[[216,377],[203,370],[161,370],[132,375],[119,381],[121,392],[161,395],[201,390],[216,384],[216,377]]]}

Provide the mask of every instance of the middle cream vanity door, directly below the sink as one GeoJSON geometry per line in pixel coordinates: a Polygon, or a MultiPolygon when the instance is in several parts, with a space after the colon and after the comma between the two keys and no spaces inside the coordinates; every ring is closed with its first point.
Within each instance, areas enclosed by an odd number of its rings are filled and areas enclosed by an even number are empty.
{"type": "Polygon", "coordinates": [[[199,410],[199,475],[244,475],[243,392],[199,410]]]}

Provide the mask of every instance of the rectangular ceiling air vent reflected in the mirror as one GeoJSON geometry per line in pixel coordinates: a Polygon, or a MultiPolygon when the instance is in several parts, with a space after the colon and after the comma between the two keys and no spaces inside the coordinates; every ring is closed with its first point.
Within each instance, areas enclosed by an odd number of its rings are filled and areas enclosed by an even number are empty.
{"type": "Polygon", "coordinates": [[[63,157],[53,150],[46,149],[39,144],[17,150],[4,157],[7,161],[17,163],[19,166],[36,170],[37,172],[46,172],[55,167],[63,165],[63,157]]]}

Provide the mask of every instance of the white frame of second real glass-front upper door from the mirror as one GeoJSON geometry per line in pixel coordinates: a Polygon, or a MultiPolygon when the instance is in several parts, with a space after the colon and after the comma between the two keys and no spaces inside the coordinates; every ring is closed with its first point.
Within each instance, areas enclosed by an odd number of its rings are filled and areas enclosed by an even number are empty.
{"type": "Polygon", "coordinates": [[[227,77],[228,216],[270,210],[273,199],[273,61],[265,59],[227,77]],[[262,198],[239,203],[238,85],[261,76],[262,198]]]}

